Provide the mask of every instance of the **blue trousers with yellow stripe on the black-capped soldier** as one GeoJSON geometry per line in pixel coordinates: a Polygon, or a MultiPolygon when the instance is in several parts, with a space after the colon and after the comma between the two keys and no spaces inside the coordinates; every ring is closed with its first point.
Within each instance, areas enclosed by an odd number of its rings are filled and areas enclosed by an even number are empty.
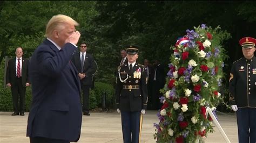
{"type": "Polygon", "coordinates": [[[142,131],[142,114],[136,112],[121,112],[124,143],[138,143],[142,131]]]}

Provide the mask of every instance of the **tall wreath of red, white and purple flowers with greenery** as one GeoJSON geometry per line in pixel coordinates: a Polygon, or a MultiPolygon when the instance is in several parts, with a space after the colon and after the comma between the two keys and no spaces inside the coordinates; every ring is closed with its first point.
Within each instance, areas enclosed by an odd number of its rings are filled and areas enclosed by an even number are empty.
{"type": "Polygon", "coordinates": [[[206,108],[215,115],[215,106],[223,99],[219,87],[227,58],[220,43],[228,33],[219,29],[202,24],[186,30],[187,34],[171,47],[170,70],[161,89],[163,106],[157,113],[160,121],[154,123],[157,142],[195,142],[213,132],[206,108]]]}

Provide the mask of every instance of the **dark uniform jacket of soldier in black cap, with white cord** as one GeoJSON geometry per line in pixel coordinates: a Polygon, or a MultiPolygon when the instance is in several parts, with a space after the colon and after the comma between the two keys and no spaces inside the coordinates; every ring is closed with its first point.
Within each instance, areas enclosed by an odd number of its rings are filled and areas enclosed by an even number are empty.
{"type": "Polygon", "coordinates": [[[116,108],[121,111],[140,111],[147,107],[147,73],[135,63],[131,73],[127,64],[118,67],[116,108]]]}

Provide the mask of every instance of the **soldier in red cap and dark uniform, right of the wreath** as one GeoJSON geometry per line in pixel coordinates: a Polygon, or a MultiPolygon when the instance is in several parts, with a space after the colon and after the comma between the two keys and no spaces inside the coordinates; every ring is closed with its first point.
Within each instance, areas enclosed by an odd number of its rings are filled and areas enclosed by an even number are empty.
{"type": "Polygon", "coordinates": [[[240,39],[241,58],[233,63],[230,73],[230,104],[237,113],[239,142],[256,142],[256,39],[240,39]],[[250,130],[250,131],[249,131],[250,130]]]}

